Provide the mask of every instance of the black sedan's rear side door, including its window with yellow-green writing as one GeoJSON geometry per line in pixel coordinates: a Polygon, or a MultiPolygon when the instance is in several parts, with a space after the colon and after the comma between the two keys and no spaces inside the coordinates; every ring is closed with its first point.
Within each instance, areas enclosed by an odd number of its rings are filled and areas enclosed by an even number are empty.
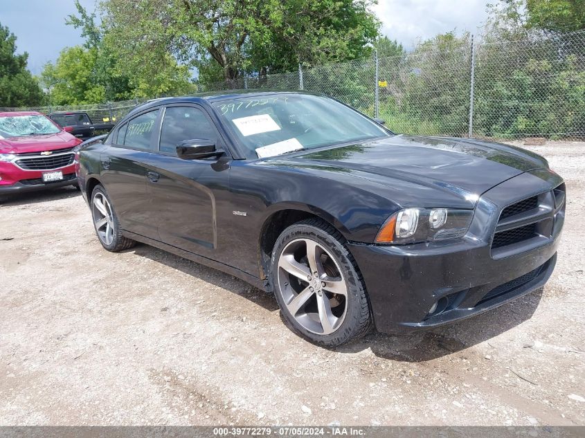
{"type": "Polygon", "coordinates": [[[161,109],[148,109],[121,125],[112,134],[111,145],[100,156],[102,183],[114,203],[124,230],[159,239],[150,194],[147,166],[158,149],[156,127],[161,109]]]}

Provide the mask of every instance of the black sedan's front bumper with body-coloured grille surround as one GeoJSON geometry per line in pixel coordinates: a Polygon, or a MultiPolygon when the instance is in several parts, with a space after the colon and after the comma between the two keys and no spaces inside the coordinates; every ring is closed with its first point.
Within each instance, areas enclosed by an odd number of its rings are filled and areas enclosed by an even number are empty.
{"type": "Polygon", "coordinates": [[[505,206],[560,183],[550,172],[527,172],[489,190],[478,201],[468,235],[456,243],[350,244],[378,331],[407,334],[437,327],[543,286],[555,268],[562,222],[554,235],[517,245],[505,257],[492,250],[491,241],[505,206]],[[435,303],[444,311],[429,314],[435,303]]]}

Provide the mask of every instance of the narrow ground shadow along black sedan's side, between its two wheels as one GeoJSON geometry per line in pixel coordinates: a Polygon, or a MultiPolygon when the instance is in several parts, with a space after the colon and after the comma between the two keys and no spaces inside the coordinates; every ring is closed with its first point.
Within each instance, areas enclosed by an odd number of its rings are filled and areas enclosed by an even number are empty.
{"type": "Polygon", "coordinates": [[[134,253],[136,255],[140,255],[141,257],[147,257],[154,262],[165,264],[166,266],[177,269],[178,271],[186,273],[187,275],[197,277],[204,282],[214,284],[215,286],[221,287],[222,289],[226,289],[226,291],[235,293],[235,295],[246,298],[246,300],[250,300],[254,304],[258,304],[258,306],[267,311],[278,310],[278,304],[276,303],[273,295],[270,295],[264,291],[260,291],[260,289],[252,286],[251,284],[248,284],[239,278],[233,277],[233,275],[228,275],[222,271],[217,271],[217,269],[208,268],[208,266],[203,264],[192,262],[183,257],[179,257],[178,255],[167,253],[164,250],[160,250],[159,248],[154,248],[154,246],[145,244],[138,244],[134,248],[125,250],[123,252],[134,253]]]}

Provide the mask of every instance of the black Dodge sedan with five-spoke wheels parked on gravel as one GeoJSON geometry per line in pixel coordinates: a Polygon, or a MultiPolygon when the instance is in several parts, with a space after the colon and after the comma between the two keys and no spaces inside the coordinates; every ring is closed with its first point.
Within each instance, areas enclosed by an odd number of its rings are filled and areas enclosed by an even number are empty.
{"type": "Polygon", "coordinates": [[[141,241],[274,293],[321,345],[467,318],[548,280],[563,180],[544,158],[397,135],[322,95],[136,107],[78,156],[101,244],[141,241]]]}

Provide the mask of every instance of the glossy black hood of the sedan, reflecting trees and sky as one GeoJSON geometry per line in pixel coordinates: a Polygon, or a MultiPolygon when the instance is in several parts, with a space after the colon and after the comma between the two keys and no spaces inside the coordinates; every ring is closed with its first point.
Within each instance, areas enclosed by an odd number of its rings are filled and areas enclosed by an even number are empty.
{"type": "Polygon", "coordinates": [[[399,179],[476,196],[523,172],[548,168],[541,156],[509,145],[403,135],[280,158],[292,166],[320,166],[382,184],[399,179]]]}

